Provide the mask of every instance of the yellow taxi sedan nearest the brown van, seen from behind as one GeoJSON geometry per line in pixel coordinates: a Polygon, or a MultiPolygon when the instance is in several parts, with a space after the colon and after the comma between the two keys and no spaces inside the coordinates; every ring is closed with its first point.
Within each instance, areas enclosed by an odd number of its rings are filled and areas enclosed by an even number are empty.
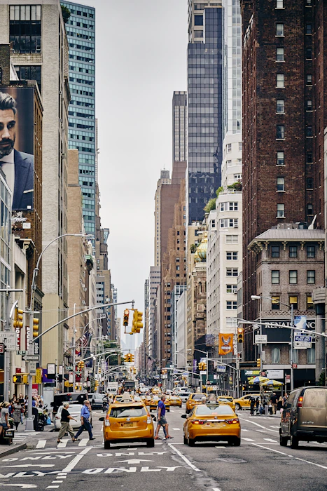
{"type": "Polygon", "coordinates": [[[185,445],[193,447],[196,441],[228,442],[241,445],[241,424],[228,404],[207,403],[196,405],[186,418],[183,426],[185,445]]]}

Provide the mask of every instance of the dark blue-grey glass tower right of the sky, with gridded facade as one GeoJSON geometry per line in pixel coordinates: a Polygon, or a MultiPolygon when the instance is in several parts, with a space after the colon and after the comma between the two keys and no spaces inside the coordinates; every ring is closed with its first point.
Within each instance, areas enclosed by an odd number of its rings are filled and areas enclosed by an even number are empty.
{"type": "Polygon", "coordinates": [[[194,15],[198,40],[188,43],[188,224],[203,220],[221,185],[222,8],[202,12],[194,15]]]}

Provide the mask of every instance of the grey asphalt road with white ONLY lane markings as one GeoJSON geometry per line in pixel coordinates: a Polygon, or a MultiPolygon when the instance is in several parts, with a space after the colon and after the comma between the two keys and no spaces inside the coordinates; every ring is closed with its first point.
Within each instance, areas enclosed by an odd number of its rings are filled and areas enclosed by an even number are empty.
{"type": "Polygon", "coordinates": [[[96,440],[89,441],[82,433],[80,442],[65,437],[57,446],[57,433],[38,433],[31,437],[37,448],[0,459],[0,491],[2,487],[11,491],[81,491],[84,487],[97,491],[326,491],[326,444],[300,443],[298,450],[280,447],[279,419],[239,411],[240,447],[222,442],[189,448],[183,445],[183,413],[174,408],[167,414],[174,439],[157,440],[155,448],[140,443],[104,450],[100,411],[93,415],[96,440]]]}

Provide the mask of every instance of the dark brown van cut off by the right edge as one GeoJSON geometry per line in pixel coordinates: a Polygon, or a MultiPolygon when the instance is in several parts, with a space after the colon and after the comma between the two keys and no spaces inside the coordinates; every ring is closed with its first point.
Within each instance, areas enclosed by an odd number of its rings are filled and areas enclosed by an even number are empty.
{"type": "Polygon", "coordinates": [[[327,387],[300,387],[291,391],[281,414],[279,443],[298,448],[299,441],[327,441],[327,387]]]}

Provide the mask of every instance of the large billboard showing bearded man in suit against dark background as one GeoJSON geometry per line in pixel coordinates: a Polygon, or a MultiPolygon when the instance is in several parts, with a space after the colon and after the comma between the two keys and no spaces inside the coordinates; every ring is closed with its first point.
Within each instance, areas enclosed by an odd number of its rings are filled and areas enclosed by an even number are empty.
{"type": "Polygon", "coordinates": [[[34,88],[1,87],[0,166],[13,211],[34,208],[34,88]]]}

